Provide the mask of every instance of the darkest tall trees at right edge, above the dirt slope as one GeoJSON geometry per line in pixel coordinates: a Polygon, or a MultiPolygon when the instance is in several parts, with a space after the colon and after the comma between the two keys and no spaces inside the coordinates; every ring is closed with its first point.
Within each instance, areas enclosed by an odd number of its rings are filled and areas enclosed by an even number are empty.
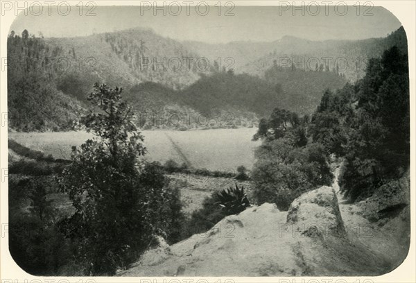
{"type": "Polygon", "coordinates": [[[372,194],[410,163],[408,57],[396,46],[373,58],[356,85],[340,187],[352,200],[372,194]]]}

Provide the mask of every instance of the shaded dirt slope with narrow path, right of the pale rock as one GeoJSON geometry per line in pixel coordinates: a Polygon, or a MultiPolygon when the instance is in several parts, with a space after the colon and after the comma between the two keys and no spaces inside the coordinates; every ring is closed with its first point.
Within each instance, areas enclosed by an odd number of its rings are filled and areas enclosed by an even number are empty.
{"type": "Polygon", "coordinates": [[[339,200],[349,240],[388,263],[392,271],[406,259],[410,246],[410,175],[380,187],[373,196],[349,203],[340,193],[334,170],[333,188],[339,200]]]}

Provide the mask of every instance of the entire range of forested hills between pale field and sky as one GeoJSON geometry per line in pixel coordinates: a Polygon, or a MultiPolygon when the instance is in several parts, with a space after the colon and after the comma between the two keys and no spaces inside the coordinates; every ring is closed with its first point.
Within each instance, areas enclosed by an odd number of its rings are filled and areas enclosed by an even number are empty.
{"type": "MultiPolygon", "coordinates": [[[[251,62],[235,70],[223,70],[221,61],[214,66],[209,56],[215,52],[210,49],[198,50],[195,42],[177,42],[143,28],[46,39],[28,31],[21,35],[12,32],[8,37],[10,127],[26,131],[71,128],[85,111],[87,94],[96,82],[122,86],[123,96],[136,111],[157,112],[159,116],[232,112],[255,123],[276,105],[311,114],[324,89],[336,89],[347,82],[348,70],[317,65],[318,71],[312,71],[291,63],[281,68],[273,59],[276,55],[290,52],[318,56],[332,50],[365,57],[381,54],[392,45],[407,50],[403,28],[384,39],[327,42],[331,47],[325,45],[327,49],[322,49],[322,44],[295,37],[261,47],[234,42],[227,46],[238,49],[236,58],[251,62]],[[198,60],[205,57],[208,65],[204,66],[203,61],[202,66],[198,65],[198,60]]],[[[221,50],[227,53],[226,48],[221,50]]]]}

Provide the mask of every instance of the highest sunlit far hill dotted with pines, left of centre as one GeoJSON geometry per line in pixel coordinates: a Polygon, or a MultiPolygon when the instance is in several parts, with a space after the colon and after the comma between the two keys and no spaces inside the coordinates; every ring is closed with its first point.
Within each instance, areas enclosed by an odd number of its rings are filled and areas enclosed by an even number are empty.
{"type": "MultiPolygon", "coordinates": [[[[82,70],[83,75],[96,76],[109,85],[151,81],[180,89],[198,79],[195,63],[198,55],[180,42],[161,37],[150,29],[51,38],[46,42],[60,46],[65,57],[78,67],[78,73],[82,70]]],[[[69,76],[73,78],[74,73],[70,72],[69,76]]]]}

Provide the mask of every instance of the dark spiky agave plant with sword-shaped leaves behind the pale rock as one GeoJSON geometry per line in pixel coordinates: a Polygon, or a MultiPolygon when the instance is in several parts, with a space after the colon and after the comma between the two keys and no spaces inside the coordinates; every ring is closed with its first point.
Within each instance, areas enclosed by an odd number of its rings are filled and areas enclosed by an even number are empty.
{"type": "Polygon", "coordinates": [[[216,194],[218,204],[223,207],[228,215],[239,214],[244,209],[250,207],[250,201],[244,193],[244,188],[241,189],[236,185],[235,188],[223,189],[216,194]]]}

